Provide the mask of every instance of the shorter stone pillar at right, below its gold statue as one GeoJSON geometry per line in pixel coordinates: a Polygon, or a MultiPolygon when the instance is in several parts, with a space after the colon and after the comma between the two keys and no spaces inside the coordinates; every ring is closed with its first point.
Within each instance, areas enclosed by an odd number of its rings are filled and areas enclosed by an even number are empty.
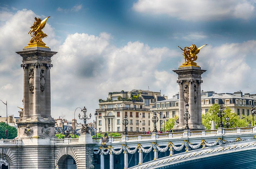
{"type": "Polygon", "coordinates": [[[181,66],[174,70],[178,74],[179,83],[179,124],[173,131],[183,131],[185,129],[184,112],[185,104],[189,104],[191,115],[188,121],[190,130],[205,130],[201,119],[201,74],[206,72],[197,66],[181,66]],[[199,106],[200,105],[200,106],[199,106]]]}

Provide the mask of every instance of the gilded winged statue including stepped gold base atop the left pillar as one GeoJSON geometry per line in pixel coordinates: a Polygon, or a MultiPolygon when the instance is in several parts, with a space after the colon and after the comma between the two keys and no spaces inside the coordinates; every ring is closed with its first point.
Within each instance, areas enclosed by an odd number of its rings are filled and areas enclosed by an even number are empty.
{"type": "Polygon", "coordinates": [[[28,33],[32,38],[30,39],[28,43],[29,46],[27,47],[46,47],[45,43],[42,41],[42,38],[47,37],[47,35],[42,31],[42,29],[44,28],[49,17],[46,17],[44,20],[35,17],[34,24],[30,27],[31,30],[28,33]]]}

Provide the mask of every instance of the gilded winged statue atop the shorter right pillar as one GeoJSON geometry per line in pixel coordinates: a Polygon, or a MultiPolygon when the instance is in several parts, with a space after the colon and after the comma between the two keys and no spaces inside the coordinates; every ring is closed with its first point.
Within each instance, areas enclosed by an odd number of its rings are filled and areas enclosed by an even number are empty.
{"type": "MultiPolygon", "coordinates": [[[[205,44],[207,45],[207,44],[205,44]]],[[[196,66],[196,67],[199,67],[196,65],[196,59],[197,59],[197,56],[196,54],[198,54],[200,52],[200,49],[203,48],[205,45],[201,46],[201,47],[196,47],[195,44],[192,44],[190,47],[184,47],[184,49],[182,49],[181,47],[179,47],[182,51],[183,51],[183,56],[184,56],[184,59],[185,59],[185,62],[182,63],[182,66],[180,67],[185,67],[185,66],[196,66]]]]}

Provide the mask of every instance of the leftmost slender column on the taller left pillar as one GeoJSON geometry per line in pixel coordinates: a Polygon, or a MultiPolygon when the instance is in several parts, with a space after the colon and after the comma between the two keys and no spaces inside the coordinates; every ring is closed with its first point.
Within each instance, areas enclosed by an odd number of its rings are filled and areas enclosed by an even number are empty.
{"type": "Polygon", "coordinates": [[[29,116],[29,69],[27,64],[21,65],[24,70],[23,76],[23,116],[29,116]]]}

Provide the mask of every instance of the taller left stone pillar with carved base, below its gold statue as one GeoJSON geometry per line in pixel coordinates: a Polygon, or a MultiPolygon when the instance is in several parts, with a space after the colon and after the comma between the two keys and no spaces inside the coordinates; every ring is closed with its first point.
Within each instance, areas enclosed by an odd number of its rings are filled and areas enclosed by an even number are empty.
{"type": "Polygon", "coordinates": [[[26,47],[16,53],[22,57],[24,68],[24,109],[16,138],[55,137],[55,121],[50,114],[50,67],[51,57],[57,52],[48,47],[26,47]]]}

